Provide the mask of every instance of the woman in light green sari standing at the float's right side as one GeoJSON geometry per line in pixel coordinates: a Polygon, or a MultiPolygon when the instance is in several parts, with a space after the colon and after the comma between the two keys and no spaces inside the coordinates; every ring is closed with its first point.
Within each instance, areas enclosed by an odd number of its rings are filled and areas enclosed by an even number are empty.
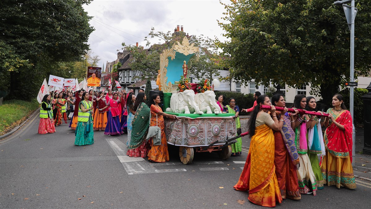
{"type": "MultiPolygon", "coordinates": [[[[229,99],[229,105],[224,106],[223,112],[227,113],[233,113],[234,116],[236,116],[236,127],[237,127],[237,133],[241,134],[241,123],[240,118],[238,115],[240,114],[240,108],[236,105],[236,99],[230,98],[229,99]]],[[[232,155],[231,156],[240,156],[242,154],[242,139],[237,138],[237,142],[232,144],[232,155]]]]}

